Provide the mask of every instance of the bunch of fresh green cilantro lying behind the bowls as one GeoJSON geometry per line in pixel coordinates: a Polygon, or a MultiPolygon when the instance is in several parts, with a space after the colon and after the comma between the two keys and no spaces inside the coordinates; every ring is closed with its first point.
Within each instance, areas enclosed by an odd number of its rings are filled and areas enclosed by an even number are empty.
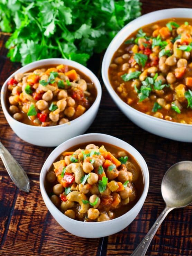
{"type": "Polygon", "coordinates": [[[0,28],[13,32],[13,62],[63,57],[85,65],[140,14],[139,0],[1,0],[0,28]]]}

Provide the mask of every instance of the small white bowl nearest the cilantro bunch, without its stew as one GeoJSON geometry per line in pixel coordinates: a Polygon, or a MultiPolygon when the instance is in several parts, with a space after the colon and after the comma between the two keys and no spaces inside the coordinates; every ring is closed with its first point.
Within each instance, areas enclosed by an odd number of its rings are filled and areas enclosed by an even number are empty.
{"type": "Polygon", "coordinates": [[[28,143],[37,146],[58,146],[63,141],[75,137],[77,135],[83,134],[89,126],[92,124],[95,116],[97,115],[99,104],[101,101],[101,84],[97,77],[85,66],[71,60],[66,60],[62,58],[50,58],[40,61],[32,62],[24,67],[21,67],[15,73],[8,77],[4,82],[1,89],[1,106],[4,115],[12,128],[12,130],[17,134],[18,137],[27,141],[28,143]],[[95,84],[97,89],[97,97],[92,104],[92,106],[80,117],[68,122],[67,124],[50,126],[50,127],[40,127],[33,125],[26,125],[22,122],[15,120],[9,114],[6,106],[6,92],[7,92],[7,82],[11,77],[17,73],[24,73],[29,70],[33,70],[40,66],[52,65],[52,64],[64,64],[71,67],[75,67],[88,76],[92,82],[95,84]]]}

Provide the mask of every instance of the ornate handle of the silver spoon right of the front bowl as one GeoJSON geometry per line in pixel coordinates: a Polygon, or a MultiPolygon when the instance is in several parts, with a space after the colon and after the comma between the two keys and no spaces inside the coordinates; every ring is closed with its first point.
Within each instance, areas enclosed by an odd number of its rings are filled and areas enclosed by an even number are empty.
{"type": "Polygon", "coordinates": [[[151,229],[148,231],[147,235],[140,242],[140,244],[137,246],[137,248],[134,250],[134,252],[131,254],[131,256],[138,256],[138,255],[144,256],[145,255],[155,233],[157,232],[157,229],[159,228],[159,226],[161,225],[161,223],[163,222],[163,220],[165,219],[167,214],[173,209],[174,208],[165,207],[165,209],[159,215],[159,217],[157,218],[157,220],[155,221],[155,223],[153,224],[151,229]]]}

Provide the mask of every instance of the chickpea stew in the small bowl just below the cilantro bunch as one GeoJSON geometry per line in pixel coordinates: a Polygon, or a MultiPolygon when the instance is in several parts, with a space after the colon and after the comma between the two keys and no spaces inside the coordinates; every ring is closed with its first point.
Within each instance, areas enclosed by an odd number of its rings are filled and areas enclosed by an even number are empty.
{"type": "Polygon", "coordinates": [[[67,65],[39,67],[8,81],[9,113],[28,125],[65,124],[88,110],[96,96],[90,78],[67,65]]]}

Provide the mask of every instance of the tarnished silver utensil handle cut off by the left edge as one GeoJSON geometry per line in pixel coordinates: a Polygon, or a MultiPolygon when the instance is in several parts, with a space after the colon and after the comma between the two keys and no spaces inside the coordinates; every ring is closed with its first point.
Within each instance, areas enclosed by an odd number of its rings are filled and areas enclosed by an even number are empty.
{"type": "Polygon", "coordinates": [[[25,192],[29,192],[30,183],[27,174],[18,162],[13,158],[9,151],[0,142],[0,157],[2,162],[15,185],[25,192]]]}

